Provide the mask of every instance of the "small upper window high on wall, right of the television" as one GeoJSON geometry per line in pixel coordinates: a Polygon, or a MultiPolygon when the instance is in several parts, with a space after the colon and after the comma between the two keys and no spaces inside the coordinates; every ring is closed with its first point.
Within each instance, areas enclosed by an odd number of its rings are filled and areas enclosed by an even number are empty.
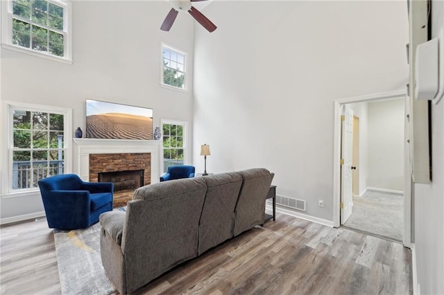
{"type": "Polygon", "coordinates": [[[162,84],[178,89],[187,89],[186,57],[186,53],[162,45],[162,84]]]}

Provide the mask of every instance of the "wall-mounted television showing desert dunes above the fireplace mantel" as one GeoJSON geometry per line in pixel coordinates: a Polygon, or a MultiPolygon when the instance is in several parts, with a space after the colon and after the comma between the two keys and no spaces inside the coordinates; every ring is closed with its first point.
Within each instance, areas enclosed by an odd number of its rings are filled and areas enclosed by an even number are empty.
{"type": "Polygon", "coordinates": [[[153,139],[153,109],[86,100],[86,137],[153,139]]]}

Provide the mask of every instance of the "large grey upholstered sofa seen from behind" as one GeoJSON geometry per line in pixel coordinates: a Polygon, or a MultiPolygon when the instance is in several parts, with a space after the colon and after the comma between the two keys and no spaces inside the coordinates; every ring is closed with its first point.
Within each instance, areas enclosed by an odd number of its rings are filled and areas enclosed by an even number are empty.
{"type": "Polygon", "coordinates": [[[177,179],[135,190],[126,213],[100,216],[101,258],[121,294],[264,223],[273,173],[264,168],[177,179]]]}

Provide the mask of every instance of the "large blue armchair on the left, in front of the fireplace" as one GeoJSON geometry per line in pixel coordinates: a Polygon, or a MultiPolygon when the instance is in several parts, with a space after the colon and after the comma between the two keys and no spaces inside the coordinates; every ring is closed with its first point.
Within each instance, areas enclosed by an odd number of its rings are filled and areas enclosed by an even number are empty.
{"type": "Polygon", "coordinates": [[[85,182],[74,174],[38,181],[46,220],[51,229],[84,229],[112,211],[111,182],[85,182]]]}

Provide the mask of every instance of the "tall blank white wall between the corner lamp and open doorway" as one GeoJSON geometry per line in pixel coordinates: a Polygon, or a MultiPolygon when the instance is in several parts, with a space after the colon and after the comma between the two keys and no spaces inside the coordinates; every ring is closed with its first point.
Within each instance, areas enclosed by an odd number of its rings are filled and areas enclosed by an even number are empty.
{"type": "Polygon", "coordinates": [[[197,170],[210,144],[207,171],[268,168],[279,195],[332,221],[334,100],[405,88],[406,3],[214,1],[205,15],[218,29],[195,29],[197,170]]]}

